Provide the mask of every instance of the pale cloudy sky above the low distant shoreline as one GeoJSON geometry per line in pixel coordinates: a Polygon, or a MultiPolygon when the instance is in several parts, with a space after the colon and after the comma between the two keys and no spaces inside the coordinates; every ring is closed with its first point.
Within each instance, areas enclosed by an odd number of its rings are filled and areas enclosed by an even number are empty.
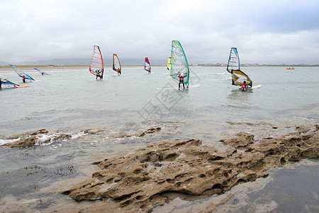
{"type": "Polygon", "coordinates": [[[189,63],[319,64],[319,1],[2,0],[0,62],[144,58],[165,64],[172,40],[189,63]]]}

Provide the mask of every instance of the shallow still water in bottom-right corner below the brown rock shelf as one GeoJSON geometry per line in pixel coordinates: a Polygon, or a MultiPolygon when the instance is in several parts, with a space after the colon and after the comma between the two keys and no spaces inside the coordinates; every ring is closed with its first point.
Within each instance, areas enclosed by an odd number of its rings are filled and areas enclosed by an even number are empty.
{"type": "Polygon", "coordinates": [[[318,160],[302,160],[272,170],[267,178],[237,185],[223,195],[177,195],[153,212],[318,212],[318,178],[318,160]]]}

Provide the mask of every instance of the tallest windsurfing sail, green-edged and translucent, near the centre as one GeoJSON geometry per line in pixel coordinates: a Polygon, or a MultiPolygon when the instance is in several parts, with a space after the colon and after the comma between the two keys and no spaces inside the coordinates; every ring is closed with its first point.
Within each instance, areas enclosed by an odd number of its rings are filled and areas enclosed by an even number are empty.
{"type": "Polygon", "coordinates": [[[184,84],[189,85],[189,62],[181,43],[178,40],[172,40],[172,52],[170,59],[170,75],[174,80],[179,81],[179,76],[184,76],[184,84]]]}

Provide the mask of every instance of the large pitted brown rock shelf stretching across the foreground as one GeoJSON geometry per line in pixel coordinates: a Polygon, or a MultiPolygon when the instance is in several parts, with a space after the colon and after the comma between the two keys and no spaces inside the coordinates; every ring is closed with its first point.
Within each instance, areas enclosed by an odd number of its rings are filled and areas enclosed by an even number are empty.
{"type": "Polygon", "coordinates": [[[226,151],[202,146],[199,139],[150,143],[96,162],[101,170],[62,193],[76,201],[102,200],[84,209],[88,212],[150,212],[167,201],[167,192],[220,194],[241,182],[267,177],[270,168],[290,160],[318,158],[317,130],[260,141],[238,133],[223,140],[230,146],[226,151]]]}

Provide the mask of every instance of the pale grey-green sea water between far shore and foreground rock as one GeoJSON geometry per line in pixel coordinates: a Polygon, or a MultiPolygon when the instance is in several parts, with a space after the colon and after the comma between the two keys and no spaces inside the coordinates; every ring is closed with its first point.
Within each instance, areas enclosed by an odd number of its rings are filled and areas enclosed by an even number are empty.
{"type": "MultiPolygon", "coordinates": [[[[145,143],[200,138],[205,145],[223,148],[218,141],[240,131],[258,139],[318,124],[319,67],[295,69],[242,67],[254,86],[261,85],[250,92],[231,85],[225,67],[190,67],[189,89],[178,89],[166,67],[152,67],[151,74],[143,67],[123,67],[123,75],[106,69],[103,80],[86,67],[47,68],[50,75],[29,69],[24,71],[35,82],[26,83],[13,70],[2,70],[0,77],[30,87],[0,91],[1,144],[10,143],[13,134],[38,129],[72,138],[0,148],[0,210],[80,207],[85,202],[74,203],[58,192],[91,177],[99,170],[91,165],[94,161],[145,143]],[[118,137],[154,126],[163,133],[118,137]],[[103,131],[87,134],[88,129],[103,131]]],[[[318,171],[318,163],[311,166],[318,171]]],[[[318,172],[312,177],[318,178],[318,172]]],[[[285,202],[280,205],[284,208],[285,202]]]]}

